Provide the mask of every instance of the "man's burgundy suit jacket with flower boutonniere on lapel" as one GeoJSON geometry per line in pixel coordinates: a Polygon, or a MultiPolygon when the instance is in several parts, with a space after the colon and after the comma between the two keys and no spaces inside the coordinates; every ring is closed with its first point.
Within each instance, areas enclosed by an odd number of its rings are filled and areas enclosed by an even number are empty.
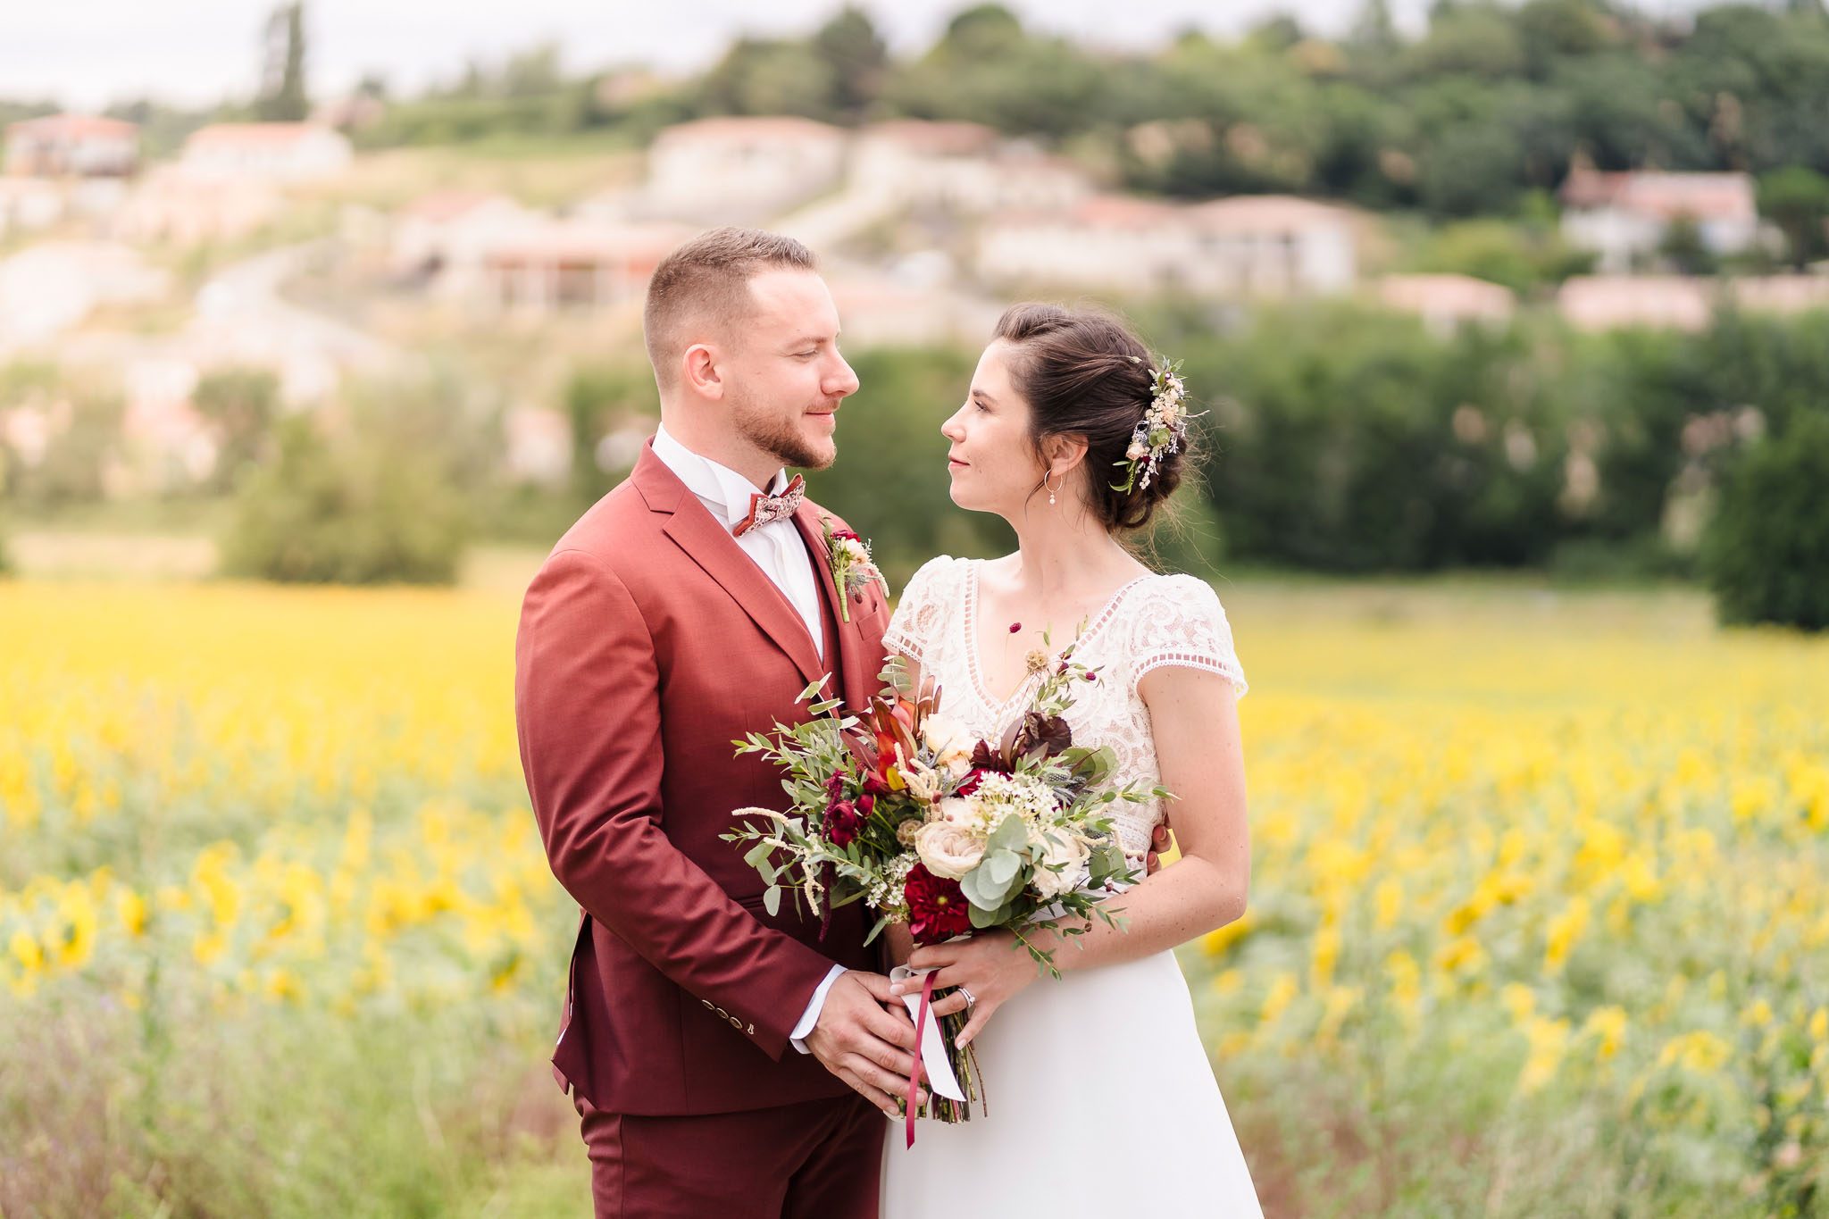
{"type": "MultiPolygon", "coordinates": [[[[547,857],[583,908],[552,1056],[560,1084],[631,1115],[759,1109],[849,1095],[788,1033],[832,963],[876,969],[861,903],[827,938],[724,843],[732,810],[786,808],[781,771],[733,742],[807,718],[810,682],[863,707],[882,669],[880,588],[838,588],[819,519],[794,526],[821,585],[827,647],[686,484],[646,448],[560,539],[516,640],[521,766],[547,857]],[[785,1053],[783,1053],[785,1051],[785,1053]]],[[[834,517],[834,525],[843,523],[834,517]]]]}

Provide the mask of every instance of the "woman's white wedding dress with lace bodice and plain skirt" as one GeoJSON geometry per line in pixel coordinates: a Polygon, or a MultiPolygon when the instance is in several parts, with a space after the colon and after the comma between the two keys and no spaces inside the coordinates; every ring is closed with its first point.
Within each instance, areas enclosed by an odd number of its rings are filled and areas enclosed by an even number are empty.
{"type": "MultiPolygon", "coordinates": [[[[979,567],[951,557],[922,567],[885,643],[940,682],[947,716],[997,740],[1026,707],[1035,678],[1004,700],[986,689],[979,567]]],[[[1077,742],[1116,751],[1118,782],[1160,779],[1149,709],[1136,693],[1145,673],[1189,665],[1246,691],[1225,610],[1191,576],[1141,576],[1119,588],[1086,623],[1075,660],[1099,667],[1099,680],[1085,685],[1066,720],[1077,742]]],[[[1141,864],[1163,810],[1118,808],[1125,852],[1141,864]]],[[[885,1140],[883,1219],[1262,1217],[1174,954],[1043,978],[997,1011],[977,1047],[989,1113],[973,1108],[958,1126],[924,1120],[913,1148],[896,1122],[885,1140]]]]}

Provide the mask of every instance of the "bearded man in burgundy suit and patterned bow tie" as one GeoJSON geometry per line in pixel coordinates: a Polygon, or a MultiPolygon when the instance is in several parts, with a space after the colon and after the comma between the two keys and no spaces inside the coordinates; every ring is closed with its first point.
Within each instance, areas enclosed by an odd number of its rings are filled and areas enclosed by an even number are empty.
{"type": "MultiPolygon", "coordinates": [[[[825,674],[861,709],[880,588],[834,587],[830,517],[785,466],[836,455],[858,378],[801,243],[719,228],[669,254],[642,318],[660,429],[560,539],[521,609],[521,766],[583,917],[552,1064],[602,1215],[872,1217],[883,1113],[914,1071],[861,905],[825,938],[719,839],[779,808],[733,740],[805,718],[825,674]]],[[[843,521],[832,517],[843,528],[843,521]]]]}

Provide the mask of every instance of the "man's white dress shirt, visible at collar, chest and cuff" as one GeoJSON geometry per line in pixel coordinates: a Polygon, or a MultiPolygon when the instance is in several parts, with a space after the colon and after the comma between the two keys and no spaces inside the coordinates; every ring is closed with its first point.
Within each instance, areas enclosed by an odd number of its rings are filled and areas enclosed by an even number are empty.
{"type": "MultiPolygon", "coordinates": [[[[693,453],[668,435],[666,428],[655,431],[655,457],[686,484],[686,490],[704,504],[704,510],[719,525],[735,528],[737,521],[750,515],[750,495],[755,495],[757,486],[730,466],[721,466],[710,457],[693,453]]],[[[786,470],[777,470],[775,477],[768,481],[768,493],[779,495],[786,486],[786,470]]],[[[763,568],[763,574],[774,581],[781,596],[788,599],[788,605],[799,610],[801,621],[807,625],[807,634],[812,636],[814,651],[819,652],[819,660],[825,660],[825,621],[819,612],[818,576],[812,570],[812,556],[807,554],[807,543],[801,541],[792,517],[761,525],[744,532],[743,537],[732,537],[732,541],[755,561],[755,567],[763,568]]],[[[794,1033],[788,1034],[788,1042],[799,1053],[808,1053],[805,1038],[819,1023],[825,996],[843,972],[843,965],[832,965],[825,981],[812,992],[812,1002],[807,1003],[807,1011],[801,1014],[799,1023],[794,1025],[794,1033]]]]}

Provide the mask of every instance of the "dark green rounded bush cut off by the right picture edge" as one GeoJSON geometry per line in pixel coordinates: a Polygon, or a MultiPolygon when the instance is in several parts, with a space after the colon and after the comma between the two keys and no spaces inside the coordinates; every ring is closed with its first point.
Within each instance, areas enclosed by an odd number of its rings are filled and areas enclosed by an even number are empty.
{"type": "Polygon", "coordinates": [[[1721,486],[1703,570],[1721,621],[1829,629],[1829,411],[1754,444],[1721,486]]]}

